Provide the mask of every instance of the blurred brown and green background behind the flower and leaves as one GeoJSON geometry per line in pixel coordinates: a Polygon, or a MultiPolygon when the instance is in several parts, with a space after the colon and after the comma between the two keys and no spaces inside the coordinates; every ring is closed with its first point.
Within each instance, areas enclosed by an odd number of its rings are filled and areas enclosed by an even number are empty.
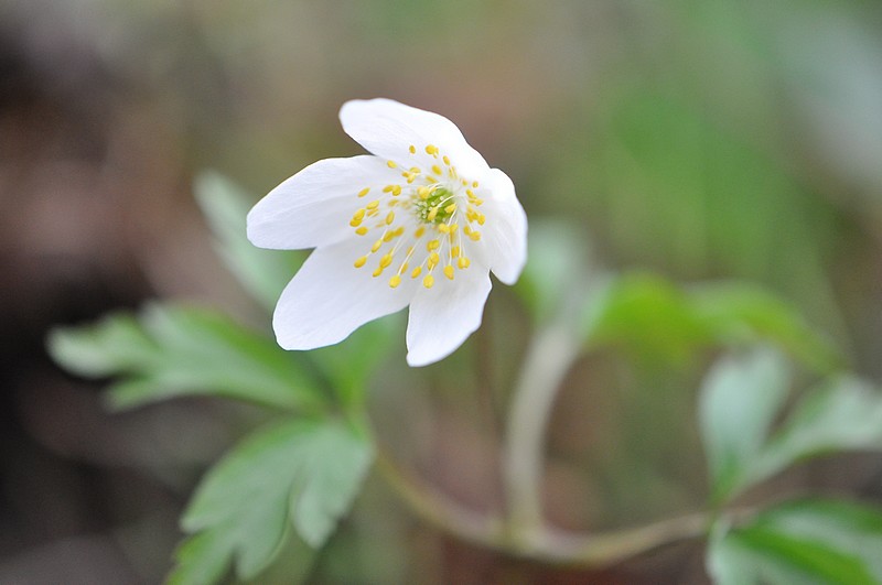
{"type": "MultiPolygon", "coordinates": [[[[454,120],[531,221],[573,221],[595,264],[757,282],[882,379],[875,0],[2,0],[0,583],[161,581],[195,481],[258,415],[213,400],[110,414],[100,386],[52,365],[46,332],[155,297],[266,327],[216,259],[192,181],[215,169],[257,197],[357,154],[337,110],[376,96],[454,120]]],[[[420,370],[401,340],[372,394],[402,465],[475,509],[499,506],[504,389],[529,329],[510,290],[485,329],[420,370]]],[[[577,365],[552,420],[553,523],[702,505],[703,365],[624,351],[577,365]]],[[[781,481],[882,498],[882,464],[856,455],[781,481]]],[[[692,545],[604,572],[513,561],[424,526],[375,479],[313,577],[704,579],[692,545]]]]}

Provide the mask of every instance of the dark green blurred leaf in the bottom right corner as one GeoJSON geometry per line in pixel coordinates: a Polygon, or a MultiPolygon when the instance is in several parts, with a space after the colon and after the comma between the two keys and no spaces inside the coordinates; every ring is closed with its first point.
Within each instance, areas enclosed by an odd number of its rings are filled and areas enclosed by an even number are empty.
{"type": "Polygon", "coordinates": [[[708,571],[720,585],[882,582],[882,511],[836,500],[798,500],[749,524],[714,530],[708,571]]]}

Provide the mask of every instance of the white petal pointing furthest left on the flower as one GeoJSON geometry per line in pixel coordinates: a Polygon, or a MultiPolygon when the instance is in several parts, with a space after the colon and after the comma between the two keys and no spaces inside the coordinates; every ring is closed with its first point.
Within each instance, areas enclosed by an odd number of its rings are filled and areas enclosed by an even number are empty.
{"type": "Polygon", "coordinates": [[[400,177],[367,154],[313,163],[260,199],[248,213],[247,232],[261,248],[297,250],[334,243],[352,235],[352,215],[375,193],[400,177]]]}

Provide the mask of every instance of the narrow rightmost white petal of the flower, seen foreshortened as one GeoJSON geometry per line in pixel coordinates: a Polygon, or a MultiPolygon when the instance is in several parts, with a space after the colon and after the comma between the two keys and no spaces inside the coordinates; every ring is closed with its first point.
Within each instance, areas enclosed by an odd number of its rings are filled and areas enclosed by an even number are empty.
{"type": "Polygon", "coordinates": [[[482,206],[487,216],[482,257],[497,279],[514,284],[527,262],[527,214],[508,175],[493,169],[490,178],[492,195],[482,206]]]}

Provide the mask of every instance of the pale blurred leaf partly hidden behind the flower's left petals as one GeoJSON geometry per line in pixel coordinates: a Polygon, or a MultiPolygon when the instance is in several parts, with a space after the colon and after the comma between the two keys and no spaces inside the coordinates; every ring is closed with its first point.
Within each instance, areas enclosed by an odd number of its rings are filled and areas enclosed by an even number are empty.
{"type": "Polygon", "coordinates": [[[248,241],[245,218],[255,198],[224,175],[213,171],[202,173],[194,192],[215,236],[218,253],[230,272],[258,302],[272,310],[305,254],[262,250],[248,241]]]}

